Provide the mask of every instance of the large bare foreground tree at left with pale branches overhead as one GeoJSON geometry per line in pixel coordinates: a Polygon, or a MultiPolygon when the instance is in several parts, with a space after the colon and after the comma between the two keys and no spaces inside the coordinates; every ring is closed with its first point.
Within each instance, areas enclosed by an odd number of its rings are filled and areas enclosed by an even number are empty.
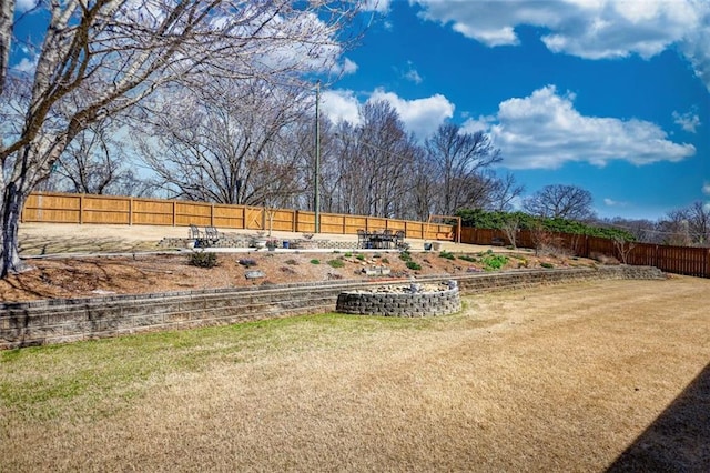
{"type": "Polygon", "coordinates": [[[24,18],[16,3],[0,2],[0,276],[23,269],[17,241],[28,195],[90,124],[176,82],[290,80],[333,66],[338,33],[357,10],[335,0],[42,2],[32,20],[44,21],[43,40],[28,43],[37,66],[23,74],[9,66],[24,18]]]}

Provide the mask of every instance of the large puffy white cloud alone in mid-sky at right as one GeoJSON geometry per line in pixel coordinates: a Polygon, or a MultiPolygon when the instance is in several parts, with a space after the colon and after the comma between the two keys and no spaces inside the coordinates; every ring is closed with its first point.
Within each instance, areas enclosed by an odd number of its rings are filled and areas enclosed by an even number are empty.
{"type": "Polygon", "coordinates": [[[501,102],[488,131],[503,152],[503,165],[556,169],[568,162],[587,162],[602,167],[615,160],[643,165],[677,162],[696,153],[692,144],[668,140],[655,123],[585,117],[575,110],[574,100],[572,94],[560,95],[548,85],[530,97],[501,102]]]}

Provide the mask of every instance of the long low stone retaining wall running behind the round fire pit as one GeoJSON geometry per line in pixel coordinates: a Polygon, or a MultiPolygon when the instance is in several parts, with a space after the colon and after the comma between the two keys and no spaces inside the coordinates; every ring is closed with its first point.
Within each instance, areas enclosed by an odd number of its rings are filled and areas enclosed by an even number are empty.
{"type": "MultiPolygon", "coordinates": [[[[419,278],[458,281],[462,294],[530,288],[575,280],[662,279],[655,268],[531,270],[419,278]]],[[[402,284],[403,281],[392,281],[402,284]]],[[[65,343],[132,333],[232,324],[335,310],[341,292],[384,282],[280,284],[143,295],[44,300],[0,304],[0,349],[65,343]]]]}

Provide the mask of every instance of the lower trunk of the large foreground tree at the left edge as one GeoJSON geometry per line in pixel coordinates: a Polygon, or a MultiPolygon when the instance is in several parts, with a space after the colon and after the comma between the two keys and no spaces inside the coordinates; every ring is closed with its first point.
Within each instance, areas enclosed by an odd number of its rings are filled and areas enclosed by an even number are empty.
{"type": "Polygon", "coordinates": [[[6,278],[10,273],[18,273],[29,266],[20,260],[18,251],[18,228],[20,223],[20,212],[29,192],[19,190],[14,182],[10,182],[4,192],[0,210],[2,211],[2,228],[0,239],[2,243],[2,262],[0,266],[0,278],[6,278]]]}

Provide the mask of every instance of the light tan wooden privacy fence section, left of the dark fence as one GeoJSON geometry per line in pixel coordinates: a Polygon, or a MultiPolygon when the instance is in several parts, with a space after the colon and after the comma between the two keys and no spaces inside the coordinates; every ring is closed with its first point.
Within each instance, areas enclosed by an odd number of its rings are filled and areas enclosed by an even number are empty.
{"type": "MultiPolygon", "coordinates": [[[[453,240],[454,225],[379,217],[320,214],[321,232],[357,234],[358,229],[403,230],[407,238],[453,240]]],[[[128,225],[200,227],[219,229],[315,232],[315,212],[266,209],[178,200],[143,199],[71,193],[33,193],[21,215],[22,222],[100,223],[128,225]]]]}

